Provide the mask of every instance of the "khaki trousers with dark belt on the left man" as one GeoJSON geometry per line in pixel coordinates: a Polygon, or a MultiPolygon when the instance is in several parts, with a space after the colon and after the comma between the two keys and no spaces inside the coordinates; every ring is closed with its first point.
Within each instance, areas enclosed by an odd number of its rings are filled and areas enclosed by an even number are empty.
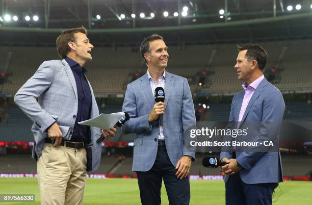
{"type": "Polygon", "coordinates": [[[82,204],[86,164],[85,148],[45,144],[37,162],[41,204],[82,204]]]}

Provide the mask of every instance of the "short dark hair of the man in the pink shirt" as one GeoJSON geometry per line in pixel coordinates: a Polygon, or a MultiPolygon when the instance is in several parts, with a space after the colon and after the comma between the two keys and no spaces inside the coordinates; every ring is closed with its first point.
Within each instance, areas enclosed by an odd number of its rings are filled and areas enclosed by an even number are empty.
{"type": "Polygon", "coordinates": [[[264,70],[267,63],[267,52],[257,44],[246,44],[242,47],[237,46],[239,51],[247,50],[246,58],[248,60],[256,60],[261,71],[264,70]]]}

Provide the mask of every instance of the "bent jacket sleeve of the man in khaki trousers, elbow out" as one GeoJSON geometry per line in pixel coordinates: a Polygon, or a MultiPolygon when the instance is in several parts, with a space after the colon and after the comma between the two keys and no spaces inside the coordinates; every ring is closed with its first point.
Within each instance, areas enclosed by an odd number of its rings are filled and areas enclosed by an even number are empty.
{"type": "Polygon", "coordinates": [[[36,73],[17,91],[14,101],[20,109],[37,124],[41,132],[55,122],[55,119],[41,108],[37,98],[49,89],[54,79],[53,64],[43,62],[36,73]]]}

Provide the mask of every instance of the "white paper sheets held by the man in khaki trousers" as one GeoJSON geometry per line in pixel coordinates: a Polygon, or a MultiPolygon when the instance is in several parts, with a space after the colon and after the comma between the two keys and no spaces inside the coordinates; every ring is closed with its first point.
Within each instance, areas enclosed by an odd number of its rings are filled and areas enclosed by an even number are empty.
{"type": "Polygon", "coordinates": [[[100,114],[89,120],[78,122],[79,124],[95,126],[100,129],[110,129],[114,126],[118,120],[124,116],[124,112],[112,113],[112,114],[100,114]]]}

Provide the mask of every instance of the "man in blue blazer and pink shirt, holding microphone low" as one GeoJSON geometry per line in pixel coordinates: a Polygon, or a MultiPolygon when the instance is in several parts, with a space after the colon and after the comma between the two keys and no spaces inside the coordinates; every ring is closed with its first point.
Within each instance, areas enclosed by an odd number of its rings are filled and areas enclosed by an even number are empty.
{"type": "MultiPolygon", "coordinates": [[[[281,92],[263,75],[266,58],[266,51],[259,45],[239,47],[235,69],[238,79],[244,81],[244,90],[233,97],[229,117],[230,122],[238,122],[235,129],[248,123],[254,126],[248,135],[258,142],[278,141],[285,110],[281,92]]],[[[272,204],[272,193],[283,177],[278,145],[274,146],[274,151],[231,147],[221,152],[221,161],[229,163],[221,167],[226,174],[226,204],[272,204]]]]}

